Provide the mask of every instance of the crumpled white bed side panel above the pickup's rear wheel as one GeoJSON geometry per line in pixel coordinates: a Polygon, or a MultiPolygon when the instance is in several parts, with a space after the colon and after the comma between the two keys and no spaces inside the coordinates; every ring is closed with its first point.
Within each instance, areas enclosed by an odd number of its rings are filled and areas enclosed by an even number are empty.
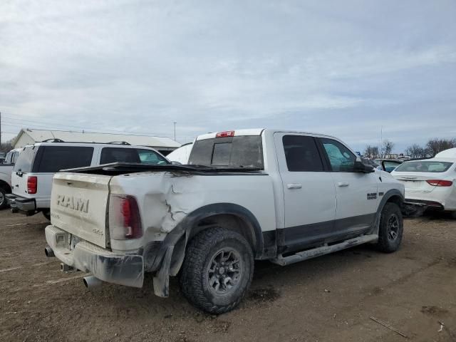
{"type": "Polygon", "coordinates": [[[254,214],[261,230],[276,228],[272,181],[267,175],[140,172],[113,177],[110,192],[136,197],[144,229],[140,239],[111,241],[113,250],[139,249],[160,241],[188,214],[215,203],[238,204],[254,214]]]}

